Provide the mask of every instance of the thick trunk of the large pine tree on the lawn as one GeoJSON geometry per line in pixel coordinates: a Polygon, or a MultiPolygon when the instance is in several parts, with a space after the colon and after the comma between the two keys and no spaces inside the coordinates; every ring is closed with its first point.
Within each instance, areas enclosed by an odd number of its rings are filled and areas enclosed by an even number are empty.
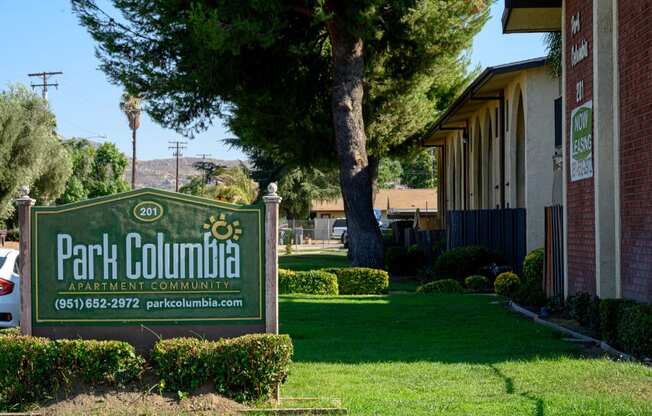
{"type": "Polygon", "coordinates": [[[332,111],[340,185],[354,266],[382,267],[383,239],[373,213],[373,166],[362,117],[364,48],[336,16],[328,23],[333,50],[332,111]]]}

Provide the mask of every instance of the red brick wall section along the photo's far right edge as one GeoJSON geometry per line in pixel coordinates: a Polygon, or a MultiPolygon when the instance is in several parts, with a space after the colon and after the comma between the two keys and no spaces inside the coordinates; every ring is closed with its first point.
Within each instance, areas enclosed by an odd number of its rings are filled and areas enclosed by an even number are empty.
{"type": "Polygon", "coordinates": [[[622,294],[652,302],[652,0],[618,3],[622,294]]]}

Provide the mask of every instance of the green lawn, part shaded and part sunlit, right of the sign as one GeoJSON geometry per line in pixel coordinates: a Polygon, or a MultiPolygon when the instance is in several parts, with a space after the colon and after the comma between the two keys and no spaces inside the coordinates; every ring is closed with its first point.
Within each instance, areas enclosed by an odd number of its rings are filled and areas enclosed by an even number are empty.
{"type": "Polygon", "coordinates": [[[652,415],[652,369],[603,358],[472,295],[281,299],[283,397],[353,415],[652,415]]]}

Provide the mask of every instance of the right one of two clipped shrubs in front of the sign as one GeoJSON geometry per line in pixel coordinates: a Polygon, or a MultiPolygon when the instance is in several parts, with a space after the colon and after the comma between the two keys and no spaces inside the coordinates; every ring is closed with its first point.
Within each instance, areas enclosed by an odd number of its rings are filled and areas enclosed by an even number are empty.
{"type": "Polygon", "coordinates": [[[288,374],[293,347],[287,335],[251,334],[206,341],[176,338],[156,343],[152,361],[161,385],[191,391],[208,382],[238,401],[269,397],[288,374]]]}

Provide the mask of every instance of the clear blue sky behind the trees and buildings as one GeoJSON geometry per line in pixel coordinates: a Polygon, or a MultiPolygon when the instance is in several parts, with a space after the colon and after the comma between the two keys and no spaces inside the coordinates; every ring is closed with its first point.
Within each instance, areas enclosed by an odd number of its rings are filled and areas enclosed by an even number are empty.
{"type": "MultiPolygon", "coordinates": [[[[472,61],[482,67],[542,56],[540,34],[503,35],[500,24],[503,2],[492,7],[492,17],[474,40],[472,61]]],[[[127,154],[131,134],[118,108],[122,89],[110,84],[97,69],[94,43],[79,26],[68,0],[0,0],[0,88],[29,84],[31,72],[63,71],[53,82],[59,89],[49,94],[59,133],[66,137],[103,135],[127,154]]],[[[189,141],[187,156],[210,153],[220,159],[242,159],[222,139],[229,137],[219,120],[189,141]]],[[[182,139],[143,117],[138,131],[138,158],[170,157],[169,140],[182,139]]],[[[94,138],[96,141],[105,139],[94,138]]]]}

